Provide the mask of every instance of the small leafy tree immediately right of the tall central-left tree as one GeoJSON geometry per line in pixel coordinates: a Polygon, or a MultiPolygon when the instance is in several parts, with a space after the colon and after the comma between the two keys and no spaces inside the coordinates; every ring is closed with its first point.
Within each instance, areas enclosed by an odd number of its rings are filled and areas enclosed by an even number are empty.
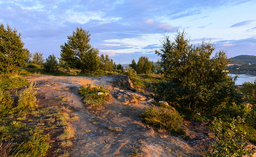
{"type": "Polygon", "coordinates": [[[113,71],[116,68],[116,63],[113,62],[112,59],[108,57],[108,55],[100,55],[100,68],[103,71],[113,71]]]}

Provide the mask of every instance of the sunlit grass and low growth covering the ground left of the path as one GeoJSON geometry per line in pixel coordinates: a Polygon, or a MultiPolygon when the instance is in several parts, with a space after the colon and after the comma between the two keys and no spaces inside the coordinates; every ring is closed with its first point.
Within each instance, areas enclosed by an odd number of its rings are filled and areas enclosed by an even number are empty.
{"type": "Polygon", "coordinates": [[[50,136],[45,130],[64,128],[59,140],[60,147],[69,147],[74,136],[69,110],[52,106],[39,108],[34,84],[16,92],[15,100],[10,94],[13,88],[28,84],[27,72],[0,75],[0,156],[46,156],[50,146],[50,136]],[[22,76],[20,76],[22,75],[22,76]]]}

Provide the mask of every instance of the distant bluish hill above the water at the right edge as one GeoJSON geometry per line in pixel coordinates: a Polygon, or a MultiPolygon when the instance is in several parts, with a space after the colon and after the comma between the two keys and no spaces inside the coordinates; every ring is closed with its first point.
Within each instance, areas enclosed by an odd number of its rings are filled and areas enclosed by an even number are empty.
{"type": "Polygon", "coordinates": [[[248,65],[249,63],[256,64],[256,56],[254,56],[254,55],[238,55],[236,57],[233,57],[229,64],[248,65]]]}

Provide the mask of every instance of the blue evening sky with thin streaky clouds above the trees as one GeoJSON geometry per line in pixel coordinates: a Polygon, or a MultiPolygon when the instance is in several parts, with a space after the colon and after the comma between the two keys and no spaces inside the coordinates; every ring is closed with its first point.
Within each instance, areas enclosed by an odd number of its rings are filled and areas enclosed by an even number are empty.
{"type": "Polygon", "coordinates": [[[168,33],[185,31],[193,44],[212,41],[228,57],[256,55],[255,0],[0,0],[0,23],[21,33],[24,48],[60,57],[76,28],[116,64],[154,53],[168,33]]]}

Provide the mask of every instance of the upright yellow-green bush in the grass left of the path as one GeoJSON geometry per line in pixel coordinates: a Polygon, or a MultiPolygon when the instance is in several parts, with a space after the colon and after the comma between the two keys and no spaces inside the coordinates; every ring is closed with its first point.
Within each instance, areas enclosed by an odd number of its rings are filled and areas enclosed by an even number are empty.
{"type": "Polygon", "coordinates": [[[18,92],[18,106],[17,110],[31,111],[37,106],[37,92],[34,91],[34,84],[30,84],[29,88],[18,92]]]}

